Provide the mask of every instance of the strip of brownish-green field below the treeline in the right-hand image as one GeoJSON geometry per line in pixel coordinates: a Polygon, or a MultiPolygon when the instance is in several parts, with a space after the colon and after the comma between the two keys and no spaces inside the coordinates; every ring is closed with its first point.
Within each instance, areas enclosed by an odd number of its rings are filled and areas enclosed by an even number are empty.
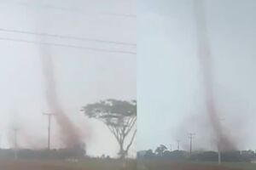
{"type": "Polygon", "coordinates": [[[255,170],[252,163],[222,163],[219,166],[212,162],[170,162],[170,161],[144,161],[138,162],[139,170],[255,170]]]}

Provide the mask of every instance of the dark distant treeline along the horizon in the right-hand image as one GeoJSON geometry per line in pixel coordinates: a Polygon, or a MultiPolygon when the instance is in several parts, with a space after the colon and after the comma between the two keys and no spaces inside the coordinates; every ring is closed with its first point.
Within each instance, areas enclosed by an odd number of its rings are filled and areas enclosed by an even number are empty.
{"type": "MultiPolygon", "coordinates": [[[[137,152],[137,159],[144,160],[170,160],[170,161],[218,161],[216,151],[194,151],[191,157],[185,150],[167,150],[166,146],[160,145],[156,150],[143,150],[137,152]]],[[[222,161],[253,161],[256,160],[256,153],[253,150],[229,151],[221,153],[222,161]]]]}

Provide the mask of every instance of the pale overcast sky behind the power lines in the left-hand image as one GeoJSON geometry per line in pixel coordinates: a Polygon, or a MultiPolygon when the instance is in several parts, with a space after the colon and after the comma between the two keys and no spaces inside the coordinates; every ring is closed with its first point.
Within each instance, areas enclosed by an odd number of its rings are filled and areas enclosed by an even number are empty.
{"type": "MultiPolygon", "coordinates": [[[[0,1],[0,29],[136,43],[136,1],[0,1]],[[122,15],[117,15],[122,14],[122,15]]],[[[39,37],[0,31],[1,37],[38,41],[39,37]]],[[[136,52],[135,47],[48,38],[47,42],[136,52]]],[[[47,144],[48,111],[37,44],[0,40],[1,145],[9,147],[11,127],[20,128],[24,145],[47,144]]],[[[51,47],[61,104],[87,134],[88,154],[115,156],[118,144],[102,123],[79,111],[99,99],[136,99],[136,55],[51,47]],[[90,137],[89,137],[90,136],[90,137]]],[[[53,129],[55,129],[55,123],[53,129]]],[[[56,132],[53,134],[53,145],[56,132]]],[[[21,144],[21,145],[22,145],[21,144]]],[[[135,144],[131,148],[135,153],[135,144]]]]}

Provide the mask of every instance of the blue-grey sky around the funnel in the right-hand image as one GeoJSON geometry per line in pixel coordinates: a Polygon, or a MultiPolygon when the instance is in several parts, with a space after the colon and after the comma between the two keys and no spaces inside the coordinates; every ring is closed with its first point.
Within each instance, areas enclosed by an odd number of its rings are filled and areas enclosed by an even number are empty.
{"type": "MultiPolygon", "coordinates": [[[[206,0],[214,91],[224,127],[240,149],[255,149],[253,0],[206,0]]],[[[207,130],[192,0],[141,0],[137,20],[138,150],[159,144],[214,149],[207,130]]]]}

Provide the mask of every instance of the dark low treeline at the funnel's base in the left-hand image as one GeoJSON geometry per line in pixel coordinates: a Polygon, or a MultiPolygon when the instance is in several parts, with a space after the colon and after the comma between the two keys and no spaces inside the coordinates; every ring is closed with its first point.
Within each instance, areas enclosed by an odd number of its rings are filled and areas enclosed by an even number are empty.
{"type": "MultiPolygon", "coordinates": [[[[16,152],[20,159],[77,159],[85,156],[85,150],[59,149],[59,150],[29,150],[20,149],[16,152]]],[[[0,158],[14,159],[14,149],[0,149],[0,158]]]]}

